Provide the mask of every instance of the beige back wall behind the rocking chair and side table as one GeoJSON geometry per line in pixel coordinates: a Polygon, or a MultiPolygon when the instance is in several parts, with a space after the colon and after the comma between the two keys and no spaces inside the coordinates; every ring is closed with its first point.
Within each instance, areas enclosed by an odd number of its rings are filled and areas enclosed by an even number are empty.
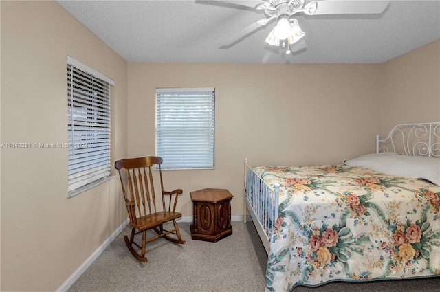
{"type": "MultiPolygon", "coordinates": [[[[375,149],[378,65],[129,63],[129,156],[155,153],[155,87],[215,87],[215,170],[166,172],[189,192],[227,188],[243,215],[243,163],[336,164],[375,149]]],[[[168,188],[168,186],[167,186],[168,188]]]]}

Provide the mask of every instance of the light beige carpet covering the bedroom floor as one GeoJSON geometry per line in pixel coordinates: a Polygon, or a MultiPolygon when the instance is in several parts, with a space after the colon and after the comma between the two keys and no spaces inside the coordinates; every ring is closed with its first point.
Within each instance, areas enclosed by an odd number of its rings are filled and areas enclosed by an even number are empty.
{"type": "MultiPolygon", "coordinates": [[[[126,248],[127,227],[68,292],[255,292],[265,291],[267,254],[252,221],[232,222],[233,234],[208,243],[192,240],[190,223],[179,223],[186,245],[159,239],[147,245],[148,262],[126,248]]],[[[440,278],[376,282],[332,282],[296,287],[294,292],[440,291],[440,278]]]]}

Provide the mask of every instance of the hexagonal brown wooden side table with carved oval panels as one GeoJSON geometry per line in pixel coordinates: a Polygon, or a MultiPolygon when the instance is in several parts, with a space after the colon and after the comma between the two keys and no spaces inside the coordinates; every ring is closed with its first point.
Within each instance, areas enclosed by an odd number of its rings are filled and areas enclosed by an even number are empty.
{"type": "Polygon", "coordinates": [[[206,188],[190,192],[192,200],[191,237],[215,243],[232,234],[231,199],[228,190],[206,188]]]}

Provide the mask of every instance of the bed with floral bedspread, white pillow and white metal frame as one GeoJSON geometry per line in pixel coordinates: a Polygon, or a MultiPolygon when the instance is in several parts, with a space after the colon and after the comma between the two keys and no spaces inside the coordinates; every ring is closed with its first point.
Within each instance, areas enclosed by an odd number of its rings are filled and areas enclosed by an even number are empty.
{"type": "MultiPolygon", "coordinates": [[[[266,290],[440,274],[440,123],[399,124],[376,152],[325,166],[245,160],[266,290]]],[[[246,217],[246,216],[245,216],[246,217]]]]}

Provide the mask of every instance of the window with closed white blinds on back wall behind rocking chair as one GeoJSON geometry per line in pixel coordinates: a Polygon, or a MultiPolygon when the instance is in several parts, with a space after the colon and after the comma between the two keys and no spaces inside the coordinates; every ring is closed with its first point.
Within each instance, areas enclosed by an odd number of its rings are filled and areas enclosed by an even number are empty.
{"type": "Polygon", "coordinates": [[[162,169],[214,168],[214,88],[156,89],[162,169]]]}

